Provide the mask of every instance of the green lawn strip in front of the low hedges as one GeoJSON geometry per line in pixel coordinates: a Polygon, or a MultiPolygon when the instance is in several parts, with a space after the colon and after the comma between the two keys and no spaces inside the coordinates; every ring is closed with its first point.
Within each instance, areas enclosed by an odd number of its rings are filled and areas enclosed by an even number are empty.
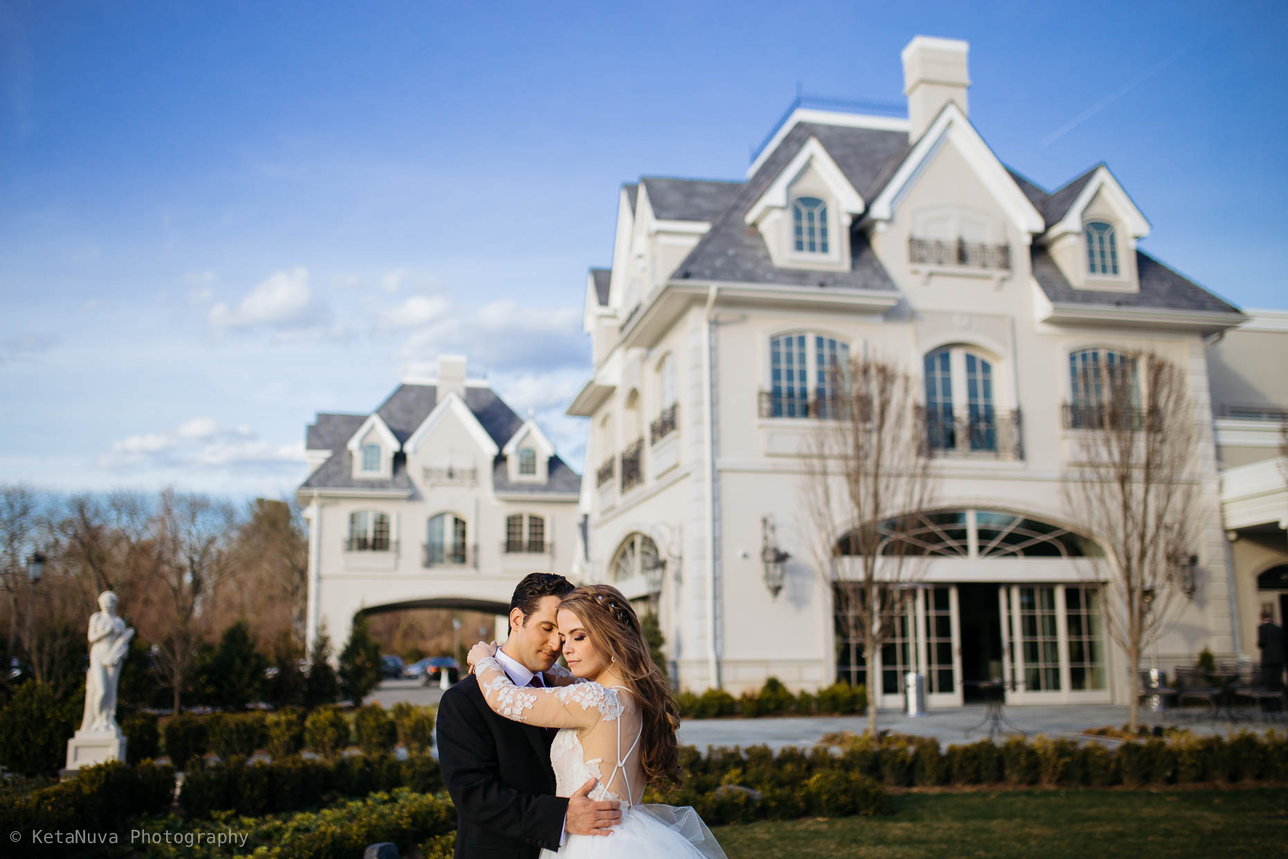
{"type": "Polygon", "coordinates": [[[715,836],[729,859],[1288,856],[1288,788],[902,793],[890,807],[715,836]]]}

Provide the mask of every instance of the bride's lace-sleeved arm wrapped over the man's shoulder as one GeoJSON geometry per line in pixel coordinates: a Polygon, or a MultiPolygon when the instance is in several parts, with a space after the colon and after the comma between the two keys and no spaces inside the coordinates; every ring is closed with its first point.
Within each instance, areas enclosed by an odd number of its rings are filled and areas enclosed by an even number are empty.
{"type": "Polygon", "coordinates": [[[497,715],[542,728],[591,728],[620,719],[623,711],[617,693],[598,683],[577,683],[555,689],[514,685],[495,657],[474,666],[479,690],[497,715]]]}

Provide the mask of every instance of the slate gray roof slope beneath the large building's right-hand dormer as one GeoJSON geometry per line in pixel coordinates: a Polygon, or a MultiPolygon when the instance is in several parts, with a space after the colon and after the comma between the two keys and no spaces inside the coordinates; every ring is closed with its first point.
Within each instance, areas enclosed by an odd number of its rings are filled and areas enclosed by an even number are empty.
{"type": "Polygon", "coordinates": [[[1212,295],[1184,274],[1170,269],[1142,251],[1136,251],[1136,272],[1140,276],[1139,292],[1105,292],[1104,290],[1075,290],[1046,252],[1045,247],[1032,250],[1033,277],[1046,296],[1055,304],[1101,304],[1123,308],[1167,308],[1200,310],[1207,313],[1239,314],[1239,308],[1212,295]]]}

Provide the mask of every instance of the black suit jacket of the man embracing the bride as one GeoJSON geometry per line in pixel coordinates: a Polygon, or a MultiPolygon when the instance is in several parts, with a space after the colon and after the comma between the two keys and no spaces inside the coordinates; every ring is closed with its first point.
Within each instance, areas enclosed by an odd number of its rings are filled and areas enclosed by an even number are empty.
{"type": "Polygon", "coordinates": [[[555,796],[550,735],[492,712],[474,675],[438,704],[438,762],[456,804],[457,859],[559,849],[568,800],[555,796]]]}

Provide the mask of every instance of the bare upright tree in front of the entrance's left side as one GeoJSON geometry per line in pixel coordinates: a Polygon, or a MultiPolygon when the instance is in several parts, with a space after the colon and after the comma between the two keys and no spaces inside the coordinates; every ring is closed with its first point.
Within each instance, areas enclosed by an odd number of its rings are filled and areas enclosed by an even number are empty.
{"type": "Polygon", "coordinates": [[[820,419],[802,456],[802,529],[837,632],[862,648],[876,732],[876,656],[907,610],[917,571],[904,536],[934,484],[917,386],[896,364],[864,355],[833,363],[828,385],[802,406],[820,419]]]}

